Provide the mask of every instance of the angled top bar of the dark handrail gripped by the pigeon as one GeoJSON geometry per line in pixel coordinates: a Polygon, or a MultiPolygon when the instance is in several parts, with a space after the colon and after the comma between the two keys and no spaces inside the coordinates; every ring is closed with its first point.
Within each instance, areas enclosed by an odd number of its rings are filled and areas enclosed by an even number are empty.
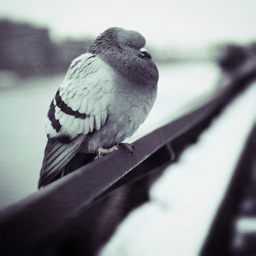
{"type": "Polygon", "coordinates": [[[143,171],[147,172],[173,161],[255,79],[255,74],[251,64],[243,67],[241,74],[237,72],[208,103],[136,140],[134,156],[125,150],[115,151],[1,211],[0,255],[33,254],[41,241],[78,218],[97,198],[118,186],[131,170],[144,166],[143,171]],[[163,152],[166,158],[162,159],[163,152]],[[154,157],[158,163],[150,161],[154,157]]]}

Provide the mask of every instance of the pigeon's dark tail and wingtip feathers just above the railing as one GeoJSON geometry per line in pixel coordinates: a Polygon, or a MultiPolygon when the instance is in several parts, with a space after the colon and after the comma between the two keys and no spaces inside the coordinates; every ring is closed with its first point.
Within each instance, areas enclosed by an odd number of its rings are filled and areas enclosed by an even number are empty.
{"type": "Polygon", "coordinates": [[[87,156],[87,154],[78,153],[86,141],[85,137],[79,136],[66,143],[48,140],[38,189],[88,163],[92,158],[91,155],[94,154],[87,156]]]}

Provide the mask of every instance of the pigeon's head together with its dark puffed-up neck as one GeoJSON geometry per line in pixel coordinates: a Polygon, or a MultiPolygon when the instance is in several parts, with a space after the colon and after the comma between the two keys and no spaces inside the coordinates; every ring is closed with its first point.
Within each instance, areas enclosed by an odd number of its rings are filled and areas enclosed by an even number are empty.
{"type": "Polygon", "coordinates": [[[140,33],[124,28],[108,28],[92,43],[88,53],[98,54],[109,66],[135,83],[156,85],[158,70],[145,50],[140,33]]]}

